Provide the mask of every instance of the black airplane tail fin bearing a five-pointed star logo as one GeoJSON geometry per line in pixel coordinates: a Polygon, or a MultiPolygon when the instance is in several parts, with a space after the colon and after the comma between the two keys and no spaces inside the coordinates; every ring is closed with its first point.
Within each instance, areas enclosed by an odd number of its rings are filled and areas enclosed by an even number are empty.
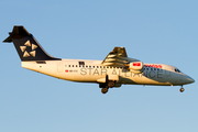
{"type": "Polygon", "coordinates": [[[50,56],[23,26],[14,26],[3,42],[13,42],[21,61],[59,61],[50,56]]]}

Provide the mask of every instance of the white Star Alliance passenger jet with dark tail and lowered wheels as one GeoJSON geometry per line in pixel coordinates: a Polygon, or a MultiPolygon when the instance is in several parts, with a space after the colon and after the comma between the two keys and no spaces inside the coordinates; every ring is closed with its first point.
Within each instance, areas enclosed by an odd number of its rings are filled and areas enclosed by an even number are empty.
{"type": "Polygon", "coordinates": [[[48,55],[24,26],[14,25],[3,41],[13,42],[23,68],[58,79],[95,82],[102,94],[122,85],[182,86],[195,80],[166,64],[146,64],[127,55],[124,47],[114,47],[103,61],[64,59],[48,55]]]}

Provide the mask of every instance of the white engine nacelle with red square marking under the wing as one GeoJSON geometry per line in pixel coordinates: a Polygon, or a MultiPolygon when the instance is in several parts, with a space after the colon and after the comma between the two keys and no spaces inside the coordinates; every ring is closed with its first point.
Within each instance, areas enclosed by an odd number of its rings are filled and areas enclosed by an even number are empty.
{"type": "Polygon", "coordinates": [[[130,64],[127,64],[127,69],[129,69],[131,73],[134,74],[141,74],[144,70],[144,64],[142,62],[133,62],[130,64]]]}

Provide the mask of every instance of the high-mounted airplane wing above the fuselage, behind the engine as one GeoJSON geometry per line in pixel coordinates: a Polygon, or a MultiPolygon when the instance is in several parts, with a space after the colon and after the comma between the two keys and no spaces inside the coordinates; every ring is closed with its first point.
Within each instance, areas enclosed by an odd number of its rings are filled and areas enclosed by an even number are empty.
{"type": "Polygon", "coordinates": [[[130,62],[139,62],[138,59],[129,58],[124,47],[114,47],[103,59],[105,66],[123,66],[130,62]]]}

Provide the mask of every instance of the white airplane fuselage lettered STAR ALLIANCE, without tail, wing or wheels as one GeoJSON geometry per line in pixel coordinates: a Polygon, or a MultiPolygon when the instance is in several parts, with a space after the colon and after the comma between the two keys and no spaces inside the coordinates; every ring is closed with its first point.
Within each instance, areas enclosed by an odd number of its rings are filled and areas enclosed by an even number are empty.
{"type": "Polygon", "coordinates": [[[193,81],[189,76],[176,72],[177,68],[169,65],[144,64],[142,74],[133,74],[124,67],[103,66],[101,62],[85,59],[22,62],[22,67],[59,79],[79,82],[105,82],[107,75],[118,76],[117,84],[120,85],[177,86],[193,81]]]}

